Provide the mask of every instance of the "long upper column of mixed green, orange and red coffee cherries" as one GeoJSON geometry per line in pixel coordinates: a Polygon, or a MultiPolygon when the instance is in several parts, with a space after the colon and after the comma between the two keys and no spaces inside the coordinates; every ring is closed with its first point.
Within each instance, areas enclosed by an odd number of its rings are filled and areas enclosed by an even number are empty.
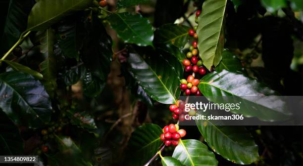
{"type": "MultiPolygon", "coordinates": [[[[201,10],[196,12],[196,20],[198,20],[201,10]]],[[[197,22],[198,23],[198,22],[197,22]]],[[[184,66],[184,77],[186,79],[181,80],[181,91],[184,92],[184,95],[197,95],[201,96],[201,91],[197,87],[200,83],[199,79],[206,74],[206,68],[203,67],[203,62],[199,59],[198,51],[198,35],[196,33],[197,26],[194,29],[189,30],[188,34],[194,38],[193,44],[189,47],[189,51],[186,54],[187,59],[183,60],[184,66]],[[195,79],[196,78],[196,79],[195,79]]]]}

